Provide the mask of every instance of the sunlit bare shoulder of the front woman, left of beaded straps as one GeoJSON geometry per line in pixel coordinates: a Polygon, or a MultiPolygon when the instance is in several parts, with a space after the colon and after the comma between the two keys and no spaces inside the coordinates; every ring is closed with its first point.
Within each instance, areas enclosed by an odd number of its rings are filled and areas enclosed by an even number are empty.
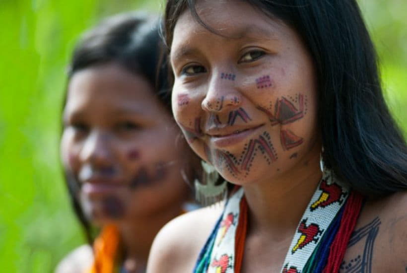
{"type": "Polygon", "coordinates": [[[219,205],[204,207],[167,223],[154,239],[147,273],[192,272],[221,212],[219,205]]]}

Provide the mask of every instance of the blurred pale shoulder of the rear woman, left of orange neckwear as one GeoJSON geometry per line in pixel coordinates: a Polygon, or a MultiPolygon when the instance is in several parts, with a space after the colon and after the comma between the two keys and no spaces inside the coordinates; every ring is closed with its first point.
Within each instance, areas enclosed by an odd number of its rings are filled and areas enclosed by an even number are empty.
{"type": "Polygon", "coordinates": [[[72,250],[57,266],[55,273],[78,273],[89,269],[93,262],[93,252],[89,245],[72,250]]]}

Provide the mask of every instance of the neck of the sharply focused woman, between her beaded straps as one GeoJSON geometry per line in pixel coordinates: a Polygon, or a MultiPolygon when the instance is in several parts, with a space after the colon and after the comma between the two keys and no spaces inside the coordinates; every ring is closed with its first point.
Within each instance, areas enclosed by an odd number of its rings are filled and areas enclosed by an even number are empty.
{"type": "Polygon", "coordinates": [[[248,234],[264,234],[270,240],[292,237],[322,177],[318,145],[298,163],[272,181],[245,185],[249,206],[248,234]]]}

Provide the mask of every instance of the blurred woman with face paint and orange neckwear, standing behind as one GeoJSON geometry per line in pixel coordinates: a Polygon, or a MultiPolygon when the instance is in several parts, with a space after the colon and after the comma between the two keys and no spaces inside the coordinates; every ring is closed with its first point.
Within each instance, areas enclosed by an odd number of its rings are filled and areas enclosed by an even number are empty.
{"type": "Polygon", "coordinates": [[[158,61],[156,22],[140,14],[111,17],[76,46],[61,154],[94,250],[76,249],[59,273],[144,272],[155,234],[190,197],[182,174],[191,179],[196,156],[179,137],[158,61]]]}

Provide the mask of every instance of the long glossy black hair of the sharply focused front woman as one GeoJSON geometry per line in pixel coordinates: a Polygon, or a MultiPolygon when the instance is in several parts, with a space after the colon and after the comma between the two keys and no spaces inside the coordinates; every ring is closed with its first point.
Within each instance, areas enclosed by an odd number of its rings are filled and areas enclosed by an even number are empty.
{"type": "MultiPolygon", "coordinates": [[[[356,0],[246,1],[292,27],[314,60],[325,163],[365,195],[407,190],[406,141],[383,98],[375,48],[356,0]]],[[[185,10],[216,32],[195,5],[167,0],[161,29],[167,53],[185,10]]]]}

